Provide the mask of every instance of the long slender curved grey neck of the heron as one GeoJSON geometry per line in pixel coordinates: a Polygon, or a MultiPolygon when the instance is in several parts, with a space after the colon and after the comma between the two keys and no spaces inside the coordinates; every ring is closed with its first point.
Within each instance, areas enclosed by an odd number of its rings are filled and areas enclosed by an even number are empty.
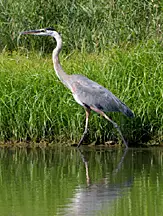
{"type": "Polygon", "coordinates": [[[62,49],[62,39],[61,39],[60,35],[58,35],[58,37],[55,39],[57,41],[57,46],[53,50],[53,54],[52,54],[54,70],[56,72],[57,77],[61,80],[61,82],[63,82],[63,84],[65,84],[67,86],[67,82],[66,82],[67,79],[66,78],[68,77],[68,74],[66,74],[64,72],[64,70],[62,69],[62,66],[60,64],[60,61],[59,61],[59,53],[62,49]]]}

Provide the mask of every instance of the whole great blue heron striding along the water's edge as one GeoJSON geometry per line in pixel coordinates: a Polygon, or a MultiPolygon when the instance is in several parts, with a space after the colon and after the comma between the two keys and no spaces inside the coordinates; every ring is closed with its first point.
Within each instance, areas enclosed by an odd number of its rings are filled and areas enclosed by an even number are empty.
{"type": "Polygon", "coordinates": [[[82,75],[68,75],[65,73],[59,61],[59,53],[62,49],[62,38],[61,35],[53,28],[29,30],[21,32],[21,34],[51,36],[56,40],[57,46],[53,50],[52,54],[56,75],[61,80],[61,82],[70,89],[76,102],[83,106],[86,112],[85,130],[77,146],[79,147],[82,144],[85,135],[87,134],[88,118],[90,111],[93,110],[96,113],[101,114],[114,125],[127,148],[127,142],[125,141],[120,128],[104,112],[122,112],[128,117],[134,117],[133,112],[108,89],[104,88],[98,83],[82,75]]]}

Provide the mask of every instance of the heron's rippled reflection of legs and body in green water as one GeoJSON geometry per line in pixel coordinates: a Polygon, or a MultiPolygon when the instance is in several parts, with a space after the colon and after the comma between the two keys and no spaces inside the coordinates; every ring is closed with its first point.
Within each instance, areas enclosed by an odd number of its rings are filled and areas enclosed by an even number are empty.
{"type": "MultiPolygon", "coordinates": [[[[132,185],[132,181],[128,179],[121,183],[112,184],[106,175],[98,180],[98,182],[91,183],[88,160],[84,155],[85,152],[80,149],[78,151],[85,165],[87,187],[78,186],[74,191],[73,198],[69,200],[69,204],[66,205],[66,208],[60,210],[60,214],[65,216],[96,215],[102,211],[108,214],[109,205],[111,206],[113,200],[124,194],[127,188],[132,185]]],[[[113,176],[120,170],[127,151],[128,149],[125,149],[117,167],[113,170],[113,176]]],[[[111,173],[109,173],[109,175],[111,175],[111,173]]]]}

